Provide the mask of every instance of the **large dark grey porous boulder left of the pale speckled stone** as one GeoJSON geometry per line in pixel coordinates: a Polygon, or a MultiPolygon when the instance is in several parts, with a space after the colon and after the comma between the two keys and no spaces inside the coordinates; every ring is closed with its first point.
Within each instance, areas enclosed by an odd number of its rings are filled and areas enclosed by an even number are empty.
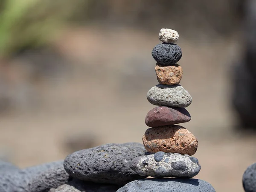
{"type": "Polygon", "coordinates": [[[68,155],[64,168],[80,180],[123,185],[142,178],[131,169],[130,163],[145,153],[143,145],[138,143],[106,144],[68,155]]]}

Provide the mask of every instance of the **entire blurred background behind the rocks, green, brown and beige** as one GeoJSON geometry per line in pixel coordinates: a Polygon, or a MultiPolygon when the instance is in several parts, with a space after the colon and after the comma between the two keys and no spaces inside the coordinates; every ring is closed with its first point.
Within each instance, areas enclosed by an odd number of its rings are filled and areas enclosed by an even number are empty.
{"type": "Polygon", "coordinates": [[[1,0],[0,158],[23,168],[105,143],[142,143],[155,107],[146,93],[158,84],[151,50],[170,28],[183,51],[180,84],[193,98],[183,126],[199,140],[196,178],[241,192],[243,172],[256,162],[255,7],[253,0],[1,0]]]}

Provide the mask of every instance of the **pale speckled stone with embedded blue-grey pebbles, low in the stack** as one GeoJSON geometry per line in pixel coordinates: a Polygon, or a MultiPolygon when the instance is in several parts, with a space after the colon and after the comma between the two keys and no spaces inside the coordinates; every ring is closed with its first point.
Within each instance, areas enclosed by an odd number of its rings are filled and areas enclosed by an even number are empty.
{"type": "Polygon", "coordinates": [[[141,176],[191,178],[198,175],[201,166],[195,157],[159,151],[155,154],[135,157],[131,161],[131,169],[141,176]]]}

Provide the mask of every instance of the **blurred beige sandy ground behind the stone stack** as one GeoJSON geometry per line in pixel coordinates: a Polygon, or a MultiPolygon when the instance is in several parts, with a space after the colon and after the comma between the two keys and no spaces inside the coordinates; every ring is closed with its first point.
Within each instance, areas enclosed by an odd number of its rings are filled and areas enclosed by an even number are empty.
{"type": "MultiPolygon", "coordinates": [[[[192,120],[183,126],[199,140],[194,157],[202,169],[196,178],[217,192],[241,192],[242,174],[256,159],[256,140],[232,131],[229,73],[237,44],[232,38],[192,44],[179,34],[180,84],[193,98],[187,108],[192,120]]],[[[1,150],[26,167],[65,158],[74,150],[66,145],[72,138],[82,146],[91,138],[92,146],[142,143],[145,115],[155,107],[146,93],[158,84],[151,57],[157,35],[124,28],[66,31],[55,49],[69,60],[68,70],[33,85],[36,107],[0,117],[1,150]]]]}

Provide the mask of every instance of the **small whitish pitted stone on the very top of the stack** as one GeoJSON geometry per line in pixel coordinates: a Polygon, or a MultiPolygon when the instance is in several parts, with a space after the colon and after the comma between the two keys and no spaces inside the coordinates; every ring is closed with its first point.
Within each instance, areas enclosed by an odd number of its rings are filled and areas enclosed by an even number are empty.
{"type": "Polygon", "coordinates": [[[163,43],[175,44],[179,40],[179,34],[172,29],[161,29],[158,38],[163,43]]]}

